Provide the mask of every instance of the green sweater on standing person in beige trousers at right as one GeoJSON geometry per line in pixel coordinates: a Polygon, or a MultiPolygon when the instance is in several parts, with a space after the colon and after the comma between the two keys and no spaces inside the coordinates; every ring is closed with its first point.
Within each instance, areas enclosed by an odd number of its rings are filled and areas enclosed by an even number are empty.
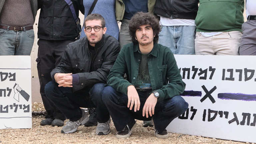
{"type": "Polygon", "coordinates": [[[197,28],[205,30],[232,29],[235,28],[236,12],[236,2],[203,2],[199,5],[195,24],[197,28]]]}

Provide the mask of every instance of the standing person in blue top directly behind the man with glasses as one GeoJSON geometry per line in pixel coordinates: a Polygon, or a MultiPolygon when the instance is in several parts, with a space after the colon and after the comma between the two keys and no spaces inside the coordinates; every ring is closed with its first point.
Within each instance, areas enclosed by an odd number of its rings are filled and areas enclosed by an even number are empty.
{"type": "MultiPolygon", "coordinates": [[[[116,21],[116,15],[115,15],[115,0],[97,0],[96,4],[93,7],[93,3],[95,3],[95,0],[84,0],[84,19],[89,14],[90,9],[92,9],[91,13],[97,13],[104,17],[106,21],[106,27],[108,30],[106,31],[106,34],[113,36],[115,39],[118,40],[119,37],[119,27],[116,21]]],[[[84,26],[83,28],[84,29],[84,26]]],[[[85,32],[81,32],[81,38],[85,37],[85,32]]],[[[84,126],[95,126],[97,125],[97,119],[95,117],[96,110],[95,108],[88,108],[90,119],[87,123],[84,124],[84,126]]]]}

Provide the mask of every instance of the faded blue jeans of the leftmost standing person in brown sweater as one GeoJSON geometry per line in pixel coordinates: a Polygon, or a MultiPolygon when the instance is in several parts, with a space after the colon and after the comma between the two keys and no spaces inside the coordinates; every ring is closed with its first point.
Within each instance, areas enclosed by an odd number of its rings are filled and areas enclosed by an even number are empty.
{"type": "Polygon", "coordinates": [[[35,34],[33,29],[14,31],[0,28],[0,56],[30,55],[34,38],[35,34]]]}

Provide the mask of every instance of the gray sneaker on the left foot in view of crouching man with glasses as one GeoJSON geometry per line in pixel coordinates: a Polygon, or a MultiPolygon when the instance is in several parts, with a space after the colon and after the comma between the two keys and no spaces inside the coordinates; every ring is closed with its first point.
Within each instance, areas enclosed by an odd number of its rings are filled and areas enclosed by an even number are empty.
{"type": "Polygon", "coordinates": [[[81,111],[82,111],[82,117],[78,121],[74,121],[74,122],[68,120],[66,122],[66,125],[62,127],[61,133],[73,133],[77,130],[78,126],[84,125],[89,120],[89,117],[85,113],[85,111],[84,110],[81,110],[81,111]]]}

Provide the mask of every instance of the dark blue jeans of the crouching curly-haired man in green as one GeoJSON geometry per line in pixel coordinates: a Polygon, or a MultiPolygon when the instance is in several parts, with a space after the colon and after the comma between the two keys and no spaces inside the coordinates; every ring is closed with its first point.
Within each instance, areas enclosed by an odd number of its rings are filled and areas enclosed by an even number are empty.
{"type": "Polygon", "coordinates": [[[117,92],[113,87],[105,87],[102,92],[102,100],[105,103],[116,130],[121,131],[128,123],[134,119],[149,121],[153,119],[155,129],[161,133],[176,117],[183,114],[188,109],[188,103],[181,96],[158,101],[152,117],[142,116],[143,106],[151,94],[152,90],[137,91],[140,98],[140,109],[134,112],[134,107],[130,110],[127,107],[128,97],[124,93],[117,92]]]}

